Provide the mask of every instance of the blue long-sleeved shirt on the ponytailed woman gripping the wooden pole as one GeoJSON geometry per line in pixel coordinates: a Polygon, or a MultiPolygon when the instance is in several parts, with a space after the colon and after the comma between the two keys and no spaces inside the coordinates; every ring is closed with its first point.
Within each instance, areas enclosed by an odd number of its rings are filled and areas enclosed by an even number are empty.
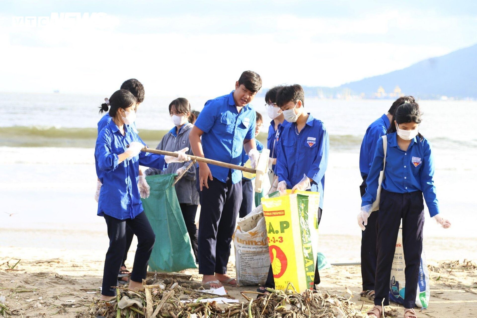
{"type": "Polygon", "coordinates": [[[124,153],[126,145],[132,142],[144,144],[127,125],[124,125],[123,136],[113,121],[98,134],[94,159],[96,174],[103,184],[99,193],[98,215],[109,215],[120,220],[135,218],[143,212],[137,188],[139,164],[160,170],[167,168],[163,155],[145,152],[118,164],[118,154],[124,153]]]}

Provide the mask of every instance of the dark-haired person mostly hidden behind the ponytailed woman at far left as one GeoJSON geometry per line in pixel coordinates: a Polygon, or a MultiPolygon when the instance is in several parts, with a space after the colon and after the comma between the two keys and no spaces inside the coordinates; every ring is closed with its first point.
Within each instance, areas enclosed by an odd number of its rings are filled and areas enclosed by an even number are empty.
{"type": "MultiPolygon", "coordinates": [[[[121,90],[126,90],[131,92],[134,97],[136,98],[136,108],[135,112],[137,112],[137,106],[139,106],[140,103],[144,101],[144,86],[141,82],[136,80],[135,78],[126,80],[121,84],[121,90]]],[[[107,104],[107,103],[106,103],[107,104]]],[[[109,115],[109,112],[106,111],[106,114],[104,114],[103,117],[98,122],[98,134],[103,130],[104,127],[109,125],[113,121],[113,118],[109,115]]],[[[134,133],[137,134],[137,129],[136,129],[136,123],[133,122],[131,125],[128,125],[134,133]]],[[[98,172],[99,174],[102,174],[102,171],[98,172]]],[[[146,182],[145,176],[143,175],[143,172],[141,169],[139,169],[139,179],[138,179],[137,186],[139,188],[139,193],[142,198],[146,198],[149,196],[149,185],[146,182]]],[[[103,184],[100,181],[100,178],[98,177],[98,182],[96,185],[96,194],[94,195],[94,199],[96,202],[98,202],[99,198],[99,192],[101,190],[101,186],[103,184]]],[[[133,241],[133,231],[129,228],[129,226],[126,226],[126,251],[124,252],[124,257],[123,257],[123,264],[121,265],[121,269],[118,274],[118,278],[123,281],[127,282],[127,276],[130,274],[130,271],[127,269],[125,262],[127,259],[127,252],[129,251],[129,247],[131,246],[131,243],[133,241]]]]}

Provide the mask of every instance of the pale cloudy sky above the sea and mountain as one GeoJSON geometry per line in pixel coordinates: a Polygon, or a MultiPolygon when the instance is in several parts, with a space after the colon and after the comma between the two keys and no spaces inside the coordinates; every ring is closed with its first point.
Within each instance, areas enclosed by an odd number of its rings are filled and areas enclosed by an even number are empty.
{"type": "Polygon", "coordinates": [[[245,70],[264,87],[338,86],[477,43],[475,0],[0,6],[1,92],[107,95],[134,77],[146,94],[212,97],[231,91],[245,70]]]}

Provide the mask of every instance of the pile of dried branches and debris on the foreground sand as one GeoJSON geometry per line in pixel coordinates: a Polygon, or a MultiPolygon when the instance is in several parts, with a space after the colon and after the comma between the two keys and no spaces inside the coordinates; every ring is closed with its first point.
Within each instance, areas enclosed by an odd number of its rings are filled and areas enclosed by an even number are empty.
{"type": "Polygon", "coordinates": [[[270,294],[254,299],[246,294],[257,292],[242,292],[246,302],[233,305],[219,306],[215,301],[200,302],[200,299],[217,297],[183,287],[177,283],[146,285],[143,290],[132,291],[118,288],[116,302],[95,301],[87,312],[80,313],[77,318],[359,318],[367,317],[354,308],[349,298],[322,294],[306,290],[299,294],[293,286],[286,290],[268,288],[270,294]],[[197,300],[195,300],[197,299],[197,300]],[[183,302],[187,300],[190,302],[183,302]],[[195,300],[195,301],[194,301],[195,300]]]}

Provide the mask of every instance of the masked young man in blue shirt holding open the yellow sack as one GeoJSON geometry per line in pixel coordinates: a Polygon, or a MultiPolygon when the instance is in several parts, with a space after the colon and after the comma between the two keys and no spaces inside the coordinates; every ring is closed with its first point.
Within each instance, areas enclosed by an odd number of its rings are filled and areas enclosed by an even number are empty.
{"type": "MultiPolygon", "coordinates": [[[[320,223],[330,138],[323,123],[306,113],[304,99],[303,88],[297,84],[284,86],[277,92],[277,105],[289,123],[282,126],[279,142],[275,145],[279,147],[276,165],[279,180],[277,190],[319,192],[320,207],[316,212],[320,223]]],[[[318,284],[320,274],[316,267],[314,285],[318,284]]],[[[274,287],[271,266],[265,287],[274,287]]]]}

